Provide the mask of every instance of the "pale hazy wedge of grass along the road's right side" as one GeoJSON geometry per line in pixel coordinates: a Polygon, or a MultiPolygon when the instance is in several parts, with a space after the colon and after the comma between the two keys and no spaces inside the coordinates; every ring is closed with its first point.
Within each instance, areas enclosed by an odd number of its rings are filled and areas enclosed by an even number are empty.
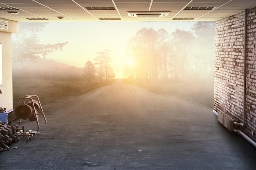
{"type": "Polygon", "coordinates": [[[213,108],[213,82],[143,82],[129,81],[123,82],[140,86],[149,91],[159,94],[174,95],[183,99],[193,100],[208,108],[213,108]]]}

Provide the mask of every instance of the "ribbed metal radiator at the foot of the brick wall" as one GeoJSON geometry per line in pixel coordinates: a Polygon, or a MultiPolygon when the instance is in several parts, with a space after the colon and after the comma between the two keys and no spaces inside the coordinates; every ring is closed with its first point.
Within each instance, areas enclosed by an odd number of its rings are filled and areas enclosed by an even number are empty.
{"type": "Polygon", "coordinates": [[[225,128],[227,128],[229,131],[234,131],[234,129],[237,128],[237,126],[234,124],[235,121],[237,120],[233,116],[228,115],[221,110],[218,111],[218,122],[225,126],[225,128]]]}

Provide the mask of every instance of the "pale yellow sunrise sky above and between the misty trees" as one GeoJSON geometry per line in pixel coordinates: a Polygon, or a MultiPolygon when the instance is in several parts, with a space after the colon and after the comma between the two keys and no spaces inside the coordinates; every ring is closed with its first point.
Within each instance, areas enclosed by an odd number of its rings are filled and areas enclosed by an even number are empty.
{"type": "Polygon", "coordinates": [[[110,50],[112,67],[116,77],[122,77],[127,41],[135,37],[141,28],[165,29],[172,33],[175,29],[190,31],[195,22],[49,22],[40,33],[43,44],[68,42],[63,51],[47,56],[57,62],[83,67],[90,60],[94,62],[97,52],[110,50]]]}

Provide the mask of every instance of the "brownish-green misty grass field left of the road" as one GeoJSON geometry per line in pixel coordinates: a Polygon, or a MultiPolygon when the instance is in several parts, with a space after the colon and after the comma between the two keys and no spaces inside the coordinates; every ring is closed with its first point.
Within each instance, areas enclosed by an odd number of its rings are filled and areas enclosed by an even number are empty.
{"type": "Polygon", "coordinates": [[[108,82],[92,81],[88,83],[81,80],[42,80],[42,79],[13,79],[13,108],[16,107],[18,99],[26,95],[37,95],[40,103],[47,104],[62,97],[83,95],[101,86],[111,84],[108,82]]]}

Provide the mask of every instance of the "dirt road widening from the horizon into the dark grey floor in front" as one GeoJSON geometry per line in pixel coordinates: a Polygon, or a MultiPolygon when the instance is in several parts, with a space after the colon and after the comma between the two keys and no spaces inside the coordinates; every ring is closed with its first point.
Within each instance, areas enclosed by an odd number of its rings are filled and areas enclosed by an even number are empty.
{"type": "Polygon", "coordinates": [[[120,80],[43,109],[47,123],[40,116],[39,129],[15,122],[40,135],[1,152],[0,169],[256,167],[256,149],[218,124],[211,108],[120,80]]]}

